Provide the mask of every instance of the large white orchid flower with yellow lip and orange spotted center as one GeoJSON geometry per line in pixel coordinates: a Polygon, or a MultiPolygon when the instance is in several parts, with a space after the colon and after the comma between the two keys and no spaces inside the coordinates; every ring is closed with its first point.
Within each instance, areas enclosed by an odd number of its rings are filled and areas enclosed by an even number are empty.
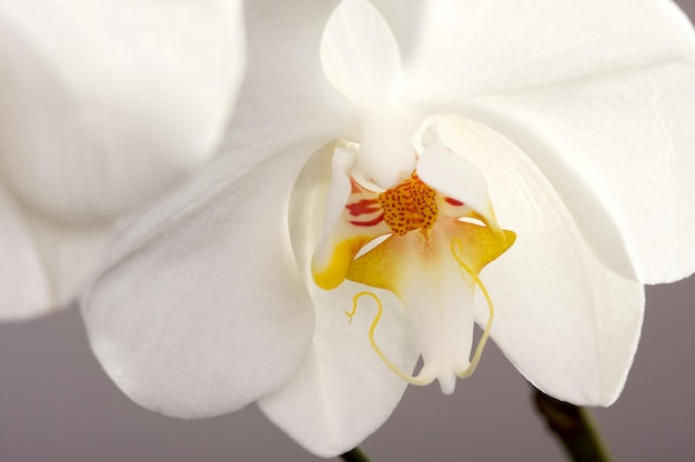
{"type": "Polygon", "coordinates": [[[611,404],[642,284],[695,268],[685,16],[254,0],[246,19],[226,155],[123,229],[83,298],[115,383],[181,418],[258,401],[332,456],[409,382],[452,392],[476,321],[541,390],[611,404]]]}

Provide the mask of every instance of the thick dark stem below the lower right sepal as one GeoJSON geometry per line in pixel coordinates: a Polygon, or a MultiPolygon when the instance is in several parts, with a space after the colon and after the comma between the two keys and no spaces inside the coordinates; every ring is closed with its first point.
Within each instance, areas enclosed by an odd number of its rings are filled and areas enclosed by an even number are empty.
{"type": "Polygon", "coordinates": [[[611,462],[611,454],[587,409],[566,403],[535,390],[536,410],[574,462],[611,462]]]}

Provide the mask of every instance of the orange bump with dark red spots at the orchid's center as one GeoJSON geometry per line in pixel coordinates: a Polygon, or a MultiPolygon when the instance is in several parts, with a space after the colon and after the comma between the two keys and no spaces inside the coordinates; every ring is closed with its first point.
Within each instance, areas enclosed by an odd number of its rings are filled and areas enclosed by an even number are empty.
{"type": "Polygon", "coordinates": [[[384,211],[384,222],[394,234],[429,230],[436,221],[436,192],[414,173],[397,187],[379,194],[377,201],[384,211]]]}

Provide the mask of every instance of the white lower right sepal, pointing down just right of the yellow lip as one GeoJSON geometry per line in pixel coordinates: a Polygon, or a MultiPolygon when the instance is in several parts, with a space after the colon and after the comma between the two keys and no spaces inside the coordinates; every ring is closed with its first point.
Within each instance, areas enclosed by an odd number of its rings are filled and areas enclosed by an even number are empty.
{"type": "MultiPolygon", "coordinates": [[[[637,346],[641,284],[602,265],[518,148],[474,122],[453,123],[442,123],[445,143],[483,172],[500,224],[517,233],[481,273],[496,310],[493,339],[546,393],[576,404],[612,403],[637,346]]],[[[483,323],[487,307],[479,308],[483,323]]]]}

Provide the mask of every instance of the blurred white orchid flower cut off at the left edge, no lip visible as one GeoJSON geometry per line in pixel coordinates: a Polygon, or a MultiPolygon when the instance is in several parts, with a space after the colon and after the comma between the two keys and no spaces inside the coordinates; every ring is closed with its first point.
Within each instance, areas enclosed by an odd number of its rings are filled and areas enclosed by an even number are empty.
{"type": "Polygon", "coordinates": [[[0,0],[0,319],[66,307],[113,221],[214,152],[241,2],[0,0]]]}

